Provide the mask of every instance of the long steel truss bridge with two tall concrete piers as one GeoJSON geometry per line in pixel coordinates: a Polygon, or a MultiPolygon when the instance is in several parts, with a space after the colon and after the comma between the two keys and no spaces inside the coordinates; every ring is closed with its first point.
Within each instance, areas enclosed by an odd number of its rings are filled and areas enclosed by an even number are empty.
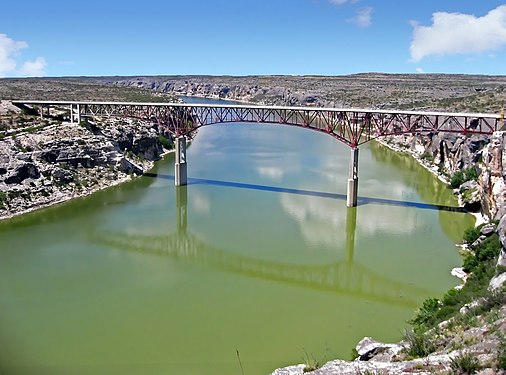
{"type": "Polygon", "coordinates": [[[232,104],[120,103],[16,100],[36,106],[43,117],[50,107],[66,108],[71,122],[85,117],[128,117],[157,124],[175,138],[175,185],[187,184],[186,136],[202,126],[231,122],[291,125],[328,134],[351,148],[347,206],[357,205],[358,147],[372,139],[402,134],[492,134],[504,116],[485,113],[395,111],[359,108],[283,107],[232,104]]]}

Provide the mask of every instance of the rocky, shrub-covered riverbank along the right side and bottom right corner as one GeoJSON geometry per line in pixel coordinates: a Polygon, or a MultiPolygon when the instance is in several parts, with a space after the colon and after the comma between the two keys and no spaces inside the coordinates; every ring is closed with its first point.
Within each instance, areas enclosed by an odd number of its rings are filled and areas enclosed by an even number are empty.
{"type": "MultiPolygon", "coordinates": [[[[426,300],[414,312],[414,331],[395,344],[361,340],[356,360],[305,363],[275,370],[273,375],[503,373],[506,368],[506,215],[504,169],[506,134],[481,137],[390,137],[380,141],[395,152],[410,154],[447,184],[460,169],[477,168],[476,180],[460,181],[454,189],[461,205],[477,218],[477,229],[466,231],[463,251],[466,284],[443,298],[426,300]],[[459,148],[454,147],[455,144],[459,148]],[[476,147],[480,145],[480,147],[476,147]],[[444,152],[443,150],[446,150],[444,152]],[[453,152],[452,152],[453,150],[453,152]],[[458,153],[456,151],[459,151],[458,153]],[[480,162],[476,162],[476,160],[480,162]],[[453,168],[453,169],[452,169],[453,168]],[[472,195],[474,198],[470,199],[472,195]],[[478,203],[478,206],[477,204],[478,203]],[[484,225],[495,219],[496,224],[484,225]],[[321,366],[321,367],[320,367],[321,366]]],[[[464,174],[465,175],[465,174],[464,174]]],[[[434,296],[438,297],[438,296],[434,296]]]]}

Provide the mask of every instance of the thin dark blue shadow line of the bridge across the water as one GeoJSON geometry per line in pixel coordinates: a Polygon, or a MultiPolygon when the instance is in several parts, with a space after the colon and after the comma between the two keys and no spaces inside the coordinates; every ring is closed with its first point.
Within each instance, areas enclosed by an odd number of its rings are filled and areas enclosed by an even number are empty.
{"type": "MultiPolygon", "coordinates": [[[[172,180],[172,181],[174,180],[174,175],[167,175],[167,174],[161,174],[161,173],[149,173],[148,172],[148,173],[145,173],[144,176],[153,177],[153,178],[162,178],[162,179],[172,180]]],[[[346,200],[346,194],[329,193],[329,192],[304,190],[304,189],[294,189],[294,188],[284,188],[284,187],[270,186],[270,185],[248,184],[248,183],[234,182],[234,181],[212,180],[212,179],[206,179],[206,178],[188,177],[188,185],[223,186],[223,187],[231,187],[231,188],[237,188],[237,189],[270,191],[270,192],[276,192],[276,193],[297,194],[297,195],[305,195],[305,196],[312,196],[312,197],[337,199],[337,200],[343,200],[343,201],[346,200]]],[[[386,199],[386,198],[374,198],[374,197],[359,197],[358,198],[358,206],[365,206],[368,204],[380,204],[380,205],[399,206],[399,207],[414,207],[414,208],[420,208],[420,209],[425,209],[425,210],[450,211],[450,212],[461,212],[461,213],[469,212],[464,207],[444,206],[444,205],[438,205],[438,204],[401,201],[401,200],[386,199]]]]}

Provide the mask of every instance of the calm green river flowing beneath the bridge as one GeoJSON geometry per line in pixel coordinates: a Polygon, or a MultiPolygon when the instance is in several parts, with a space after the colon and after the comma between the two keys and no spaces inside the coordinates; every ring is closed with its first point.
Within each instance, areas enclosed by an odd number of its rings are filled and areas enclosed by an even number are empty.
{"type": "Polygon", "coordinates": [[[398,340],[474,218],[412,158],[221,124],[146,176],[0,223],[0,373],[267,374],[398,340]]]}

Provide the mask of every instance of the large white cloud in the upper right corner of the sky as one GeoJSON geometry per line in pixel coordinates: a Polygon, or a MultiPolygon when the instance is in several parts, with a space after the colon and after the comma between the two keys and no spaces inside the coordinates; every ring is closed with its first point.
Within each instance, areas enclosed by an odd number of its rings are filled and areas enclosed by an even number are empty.
{"type": "Polygon", "coordinates": [[[506,45],[506,5],[483,17],[437,12],[431,26],[412,22],[411,60],[418,62],[433,55],[480,53],[506,45]]]}

